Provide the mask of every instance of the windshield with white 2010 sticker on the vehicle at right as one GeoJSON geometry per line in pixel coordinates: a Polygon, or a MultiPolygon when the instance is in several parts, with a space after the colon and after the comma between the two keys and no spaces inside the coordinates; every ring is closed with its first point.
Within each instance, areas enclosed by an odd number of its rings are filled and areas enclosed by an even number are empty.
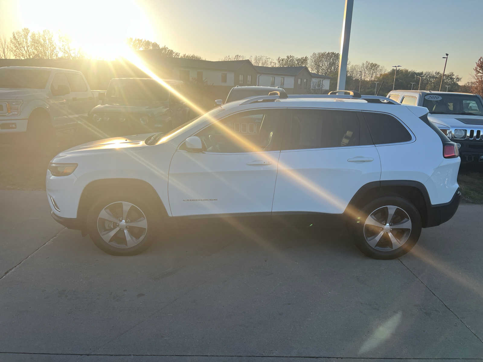
{"type": "Polygon", "coordinates": [[[431,114],[466,114],[483,116],[481,99],[473,95],[431,93],[424,98],[423,106],[431,114]],[[440,98],[436,100],[428,98],[440,98]]]}

